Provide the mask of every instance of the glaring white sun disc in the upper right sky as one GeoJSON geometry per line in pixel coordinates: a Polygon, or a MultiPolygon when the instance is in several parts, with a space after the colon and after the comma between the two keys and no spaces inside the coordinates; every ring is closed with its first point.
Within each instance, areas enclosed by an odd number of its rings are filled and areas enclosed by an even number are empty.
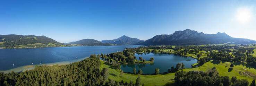
{"type": "Polygon", "coordinates": [[[249,8],[239,8],[237,10],[236,18],[242,24],[248,23],[251,20],[251,16],[252,14],[249,8]]]}

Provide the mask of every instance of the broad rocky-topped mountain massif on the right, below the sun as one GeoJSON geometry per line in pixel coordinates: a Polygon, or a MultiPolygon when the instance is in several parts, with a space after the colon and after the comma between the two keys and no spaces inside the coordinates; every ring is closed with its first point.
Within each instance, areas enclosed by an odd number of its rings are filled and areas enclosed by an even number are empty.
{"type": "Polygon", "coordinates": [[[176,31],[171,35],[156,35],[138,45],[202,45],[202,44],[254,44],[255,40],[233,38],[226,33],[204,34],[186,29],[176,31]]]}

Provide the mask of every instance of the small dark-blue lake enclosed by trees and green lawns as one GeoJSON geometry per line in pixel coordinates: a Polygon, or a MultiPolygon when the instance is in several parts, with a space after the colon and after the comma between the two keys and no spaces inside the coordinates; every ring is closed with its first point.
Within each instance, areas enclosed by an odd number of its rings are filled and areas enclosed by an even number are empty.
{"type": "Polygon", "coordinates": [[[171,69],[172,66],[175,68],[177,63],[184,63],[185,68],[191,68],[191,65],[197,62],[197,59],[174,54],[136,53],[135,56],[137,59],[142,57],[145,60],[150,60],[150,58],[153,57],[155,60],[154,63],[149,64],[122,65],[121,70],[123,70],[123,72],[133,72],[133,69],[136,68],[137,72],[141,69],[143,74],[154,74],[155,68],[159,68],[160,72],[163,73],[171,69]]]}

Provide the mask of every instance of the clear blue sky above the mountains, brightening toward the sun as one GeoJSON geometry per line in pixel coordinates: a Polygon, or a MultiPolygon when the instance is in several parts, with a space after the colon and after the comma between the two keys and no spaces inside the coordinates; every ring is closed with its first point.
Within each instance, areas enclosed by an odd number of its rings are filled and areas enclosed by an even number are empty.
{"type": "Polygon", "coordinates": [[[256,40],[256,0],[1,0],[0,34],[147,40],[192,29],[256,40]]]}

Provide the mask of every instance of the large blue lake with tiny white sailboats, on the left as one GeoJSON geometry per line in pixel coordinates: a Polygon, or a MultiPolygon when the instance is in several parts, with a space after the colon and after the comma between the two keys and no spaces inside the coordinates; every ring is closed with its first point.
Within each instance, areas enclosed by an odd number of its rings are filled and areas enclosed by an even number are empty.
{"type": "Polygon", "coordinates": [[[68,64],[88,58],[91,54],[107,54],[137,48],[140,45],[72,46],[35,49],[0,49],[0,72],[21,72],[33,69],[27,65],[68,64]],[[33,64],[32,64],[33,63],[33,64]]]}

